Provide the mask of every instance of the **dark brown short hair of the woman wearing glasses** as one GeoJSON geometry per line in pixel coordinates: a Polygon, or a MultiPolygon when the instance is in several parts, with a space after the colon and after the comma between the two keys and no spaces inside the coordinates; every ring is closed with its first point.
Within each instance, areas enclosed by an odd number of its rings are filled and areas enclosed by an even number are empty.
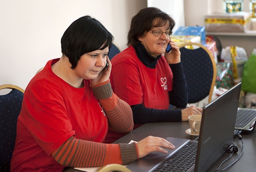
{"type": "Polygon", "coordinates": [[[130,31],[128,33],[128,43],[127,45],[135,46],[140,41],[139,37],[143,36],[145,31],[150,31],[153,27],[161,27],[169,22],[169,28],[172,31],[175,22],[171,16],[156,7],[147,7],[141,9],[133,18],[130,26],[130,31]],[[156,25],[153,25],[155,19],[159,19],[156,25]]]}

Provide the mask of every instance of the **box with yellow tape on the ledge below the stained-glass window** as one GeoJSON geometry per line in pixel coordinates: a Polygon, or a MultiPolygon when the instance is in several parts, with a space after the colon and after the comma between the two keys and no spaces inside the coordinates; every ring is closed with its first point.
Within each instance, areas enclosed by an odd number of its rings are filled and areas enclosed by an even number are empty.
{"type": "Polygon", "coordinates": [[[251,14],[243,11],[204,16],[207,32],[246,32],[251,29],[251,20],[251,14]]]}

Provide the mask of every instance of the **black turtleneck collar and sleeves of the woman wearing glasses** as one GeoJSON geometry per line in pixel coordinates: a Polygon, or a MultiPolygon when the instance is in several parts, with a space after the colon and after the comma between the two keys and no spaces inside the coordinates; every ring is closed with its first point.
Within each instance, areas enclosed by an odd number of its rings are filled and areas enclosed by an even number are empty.
{"type": "MultiPolygon", "coordinates": [[[[139,60],[149,68],[156,68],[156,63],[161,58],[161,54],[156,58],[148,53],[142,43],[134,47],[139,60]]],[[[182,64],[169,65],[173,72],[173,90],[169,91],[169,101],[176,107],[186,107],[187,105],[187,83],[183,72],[182,64]]],[[[143,104],[131,106],[135,124],[149,122],[176,122],[181,121],[181,110],[162,110],[146,108],[143,104]]]]}

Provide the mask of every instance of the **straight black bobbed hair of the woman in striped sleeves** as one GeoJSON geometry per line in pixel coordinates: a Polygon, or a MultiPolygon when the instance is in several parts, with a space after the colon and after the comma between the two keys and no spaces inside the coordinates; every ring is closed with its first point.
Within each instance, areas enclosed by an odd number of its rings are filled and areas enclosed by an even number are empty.
{"type": "Polygon", "coordinates": [[[63,34],[61,52],[69,58],[74,69],[83,54],[108,46],[110,48],[113,40],[113,35],[98,20],[83,16],[75,20],[63,34]]]}

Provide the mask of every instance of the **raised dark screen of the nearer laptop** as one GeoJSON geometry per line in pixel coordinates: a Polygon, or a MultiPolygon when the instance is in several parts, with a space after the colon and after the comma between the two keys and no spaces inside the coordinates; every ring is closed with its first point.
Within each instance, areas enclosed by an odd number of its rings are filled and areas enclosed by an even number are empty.
{"type": "Polygon", "coordinates": [[[210,168],[232,144],[240,91],[238,83],[203,108],[196,172],[210,168]]]}

